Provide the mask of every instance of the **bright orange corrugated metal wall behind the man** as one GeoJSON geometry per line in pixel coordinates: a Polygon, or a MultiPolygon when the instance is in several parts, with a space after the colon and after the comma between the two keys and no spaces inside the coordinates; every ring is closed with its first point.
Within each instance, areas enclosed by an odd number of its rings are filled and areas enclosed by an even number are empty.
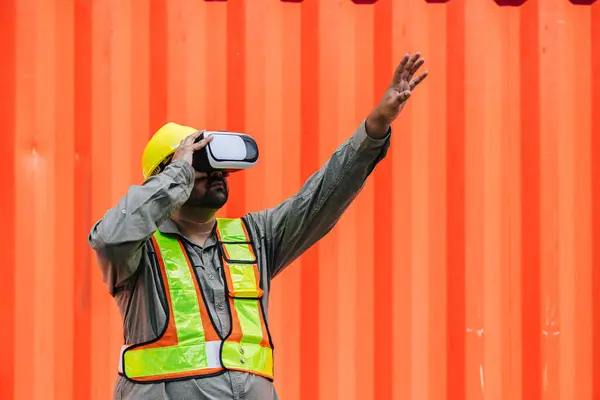
{"type": "Polygon", "coordinates": [[[600,2],[573,2],[2,0],[0,398],[110,398],[86,237],[151,132],[251,133],[223,214],[272,206],[417,50],[389,156],[274,282],[281,398],[600,398],[600,2]]]}

